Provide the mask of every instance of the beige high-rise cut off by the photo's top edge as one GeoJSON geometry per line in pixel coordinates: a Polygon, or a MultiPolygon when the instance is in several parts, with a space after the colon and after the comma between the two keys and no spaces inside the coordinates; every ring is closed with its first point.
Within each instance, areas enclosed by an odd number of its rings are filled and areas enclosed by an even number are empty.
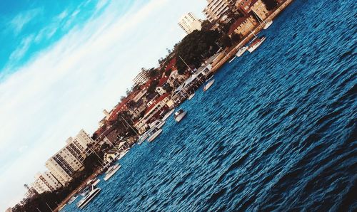
{"type": "Polygon", "coordinates": [[[216,21],[229,9],[228,1],[226,0],[207,0],[208,4],[203,9],[203,14],[208,21],[216,21]]]}

